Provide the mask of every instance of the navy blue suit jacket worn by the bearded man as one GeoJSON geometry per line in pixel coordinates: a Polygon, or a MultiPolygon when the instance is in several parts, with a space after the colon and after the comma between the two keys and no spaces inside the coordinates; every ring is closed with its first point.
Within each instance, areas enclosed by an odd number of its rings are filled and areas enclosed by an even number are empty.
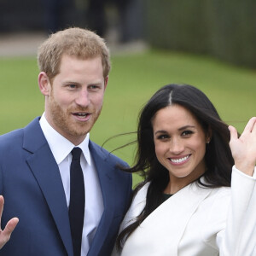
{"type": "MultiPolygon", "coordinates": [[[[124,161],[95,143],[89,147],[104,212],[87,255],[108,256],[130,201],[131,175],[118,169],[124,161]]],[[[38,118],[0,137],[0,195],[5,201],[2,229],[10,218],[20,218],[1,256],[73,256],[61,175],[38,118]]]]}

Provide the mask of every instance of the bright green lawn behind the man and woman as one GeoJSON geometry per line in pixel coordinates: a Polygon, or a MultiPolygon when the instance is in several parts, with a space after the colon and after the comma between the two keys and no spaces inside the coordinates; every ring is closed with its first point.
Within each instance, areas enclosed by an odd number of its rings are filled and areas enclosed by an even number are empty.
{"type": "MultiPolygon", "coordinates": [[[[209,57],[151,50],[134,55],[113,55],[102,115],[90,137],[99,144],[114,135],[136,131],[137,113],[162,85],[193,84],[203,90],[222,119],[239,131],[256,115],[256,73],[209,57]]],[[[44,111],[38,90],[36,58],[0,59],[0,134],[26,125],[44,111]]],[[[131,142],[122,136],[104,145],[108,150],[131,142]]],[[[114,151],[132,164],[135,148],[114,151]]],[[[136,181],[137,182],[137,177],[136,181]]]]}

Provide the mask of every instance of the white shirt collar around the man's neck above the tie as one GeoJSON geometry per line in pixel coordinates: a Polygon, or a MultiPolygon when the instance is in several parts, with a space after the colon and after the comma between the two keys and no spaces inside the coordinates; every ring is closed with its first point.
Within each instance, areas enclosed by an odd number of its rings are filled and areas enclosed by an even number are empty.
{"type": "Polygon", "coordinates": [[[44,113],[39,122],[42,131],[44,132],[44,137],[46,138],[49,144],[49,148],[54,155],[55,161],[58,165],[67,157],[67,155],[74,147],[79,147],[82,149],[85,160],[90,166],[89,133],[87,133],[82,143],[80,143],[78,146],[75,146],[73,143],[67,140],[67,138],[63,137],[59,132],[55,131],[52,126],[49,125],[44,113]]]}

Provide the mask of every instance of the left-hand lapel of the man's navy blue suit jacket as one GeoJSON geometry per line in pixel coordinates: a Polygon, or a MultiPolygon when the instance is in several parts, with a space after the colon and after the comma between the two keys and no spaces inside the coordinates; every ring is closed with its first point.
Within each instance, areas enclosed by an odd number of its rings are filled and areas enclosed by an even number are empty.
{"type": "Polygon", "coordinates": [[[67,201],[61,174],[38,120],[34,120],[25,128],[24,148],[32,153],[26,160],[27,164],[44,194],[68,255],[73,255],[67,201]]]}

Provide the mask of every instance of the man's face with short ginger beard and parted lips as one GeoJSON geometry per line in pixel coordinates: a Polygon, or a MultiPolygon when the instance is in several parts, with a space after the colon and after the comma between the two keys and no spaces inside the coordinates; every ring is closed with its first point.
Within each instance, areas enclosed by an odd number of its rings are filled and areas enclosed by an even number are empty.
{"type": "MultiPolygon", "coordinates": [[[[46,75],[43,73],[43,77],[46,75]]],[[[75,145],[81,143],[102,110],[108,84],[104,80],[102,59],[79,60],[63,55],[60,73],[48,82],[45,117],[56,131],[75,145]]],[[[40,74],[39,74],[40,83],[40,74]]],[[[40,86],[41,88],[42,86],[40,86]]]]}

